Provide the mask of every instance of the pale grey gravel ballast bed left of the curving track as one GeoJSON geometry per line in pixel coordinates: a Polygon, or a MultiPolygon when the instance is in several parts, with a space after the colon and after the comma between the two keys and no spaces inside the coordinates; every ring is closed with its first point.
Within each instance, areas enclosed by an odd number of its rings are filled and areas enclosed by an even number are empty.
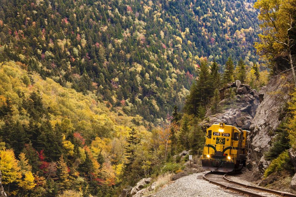
{"type": "Polygon", "coordinates": [[[207,172],[200,172],[177,179],[167,187],[155,194],[156,197],[195,197],[219,196],[234,197],[232,192],[209,183],[203,179],[207,172]]]}

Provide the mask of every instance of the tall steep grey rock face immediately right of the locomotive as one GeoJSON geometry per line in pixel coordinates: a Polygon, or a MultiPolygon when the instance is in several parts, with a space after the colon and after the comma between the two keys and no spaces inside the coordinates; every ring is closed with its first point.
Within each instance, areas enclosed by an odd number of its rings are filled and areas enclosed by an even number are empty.
{"type": "Polygon", "coordinates": [[[291,74],[275,75],[267,86],[259,91],[263,100],[250,125],[251,132],[247,139],[250,147],[247,165],[255,167],[261,173],[269,165],[264,159],[264,153],[270,148],[271,134],[282,121],[284,100],[289,98],[288,94],[283,93],[288,92],[288,86],[285,84],[291,78],[291,74]]]}

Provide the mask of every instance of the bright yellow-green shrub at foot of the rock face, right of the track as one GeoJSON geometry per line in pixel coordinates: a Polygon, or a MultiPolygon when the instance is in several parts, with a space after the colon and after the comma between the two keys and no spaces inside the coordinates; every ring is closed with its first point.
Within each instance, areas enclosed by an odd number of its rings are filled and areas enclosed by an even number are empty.
{"type": "Polygon", "coordinates": [[[294,167],[290,161],[290,156],[287,150],[282,152],[276,159],[272,160],[272,162],[266,168],[264,176],[267,177],[273,172],[282,170],[294,171],[294,167]]]}

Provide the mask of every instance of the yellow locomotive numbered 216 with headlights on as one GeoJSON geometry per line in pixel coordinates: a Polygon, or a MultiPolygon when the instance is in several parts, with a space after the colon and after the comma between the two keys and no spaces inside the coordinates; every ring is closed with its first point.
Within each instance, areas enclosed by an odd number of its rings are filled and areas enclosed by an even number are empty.
{"type": "Polygon", "coordinates": [[[226,125],[213,124],[207,129],[202,166],[208,171],[231,172],[245,166],[249,131],[226,125]]]}

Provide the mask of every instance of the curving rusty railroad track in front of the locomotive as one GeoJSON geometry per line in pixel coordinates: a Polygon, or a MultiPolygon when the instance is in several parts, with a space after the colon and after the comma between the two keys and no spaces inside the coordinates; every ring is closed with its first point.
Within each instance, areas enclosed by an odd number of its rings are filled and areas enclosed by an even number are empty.
{"type": "Polygon", "coordinates": [[[278,196],[287,196],[287,197],[296,197],[294,194],[289,194],[281,191],[269,190],[261,187],[255,187],[251,185],[245,185],[242,183],[237,183],[235,181],[229,180],[226,178],[227,174],[217,173],[217,172],[208,172],[204,175],[203,179],[223,187],[225,189],[237,192],[242,195],[254,196],[254,197],[278,197],[278,196]]]}

